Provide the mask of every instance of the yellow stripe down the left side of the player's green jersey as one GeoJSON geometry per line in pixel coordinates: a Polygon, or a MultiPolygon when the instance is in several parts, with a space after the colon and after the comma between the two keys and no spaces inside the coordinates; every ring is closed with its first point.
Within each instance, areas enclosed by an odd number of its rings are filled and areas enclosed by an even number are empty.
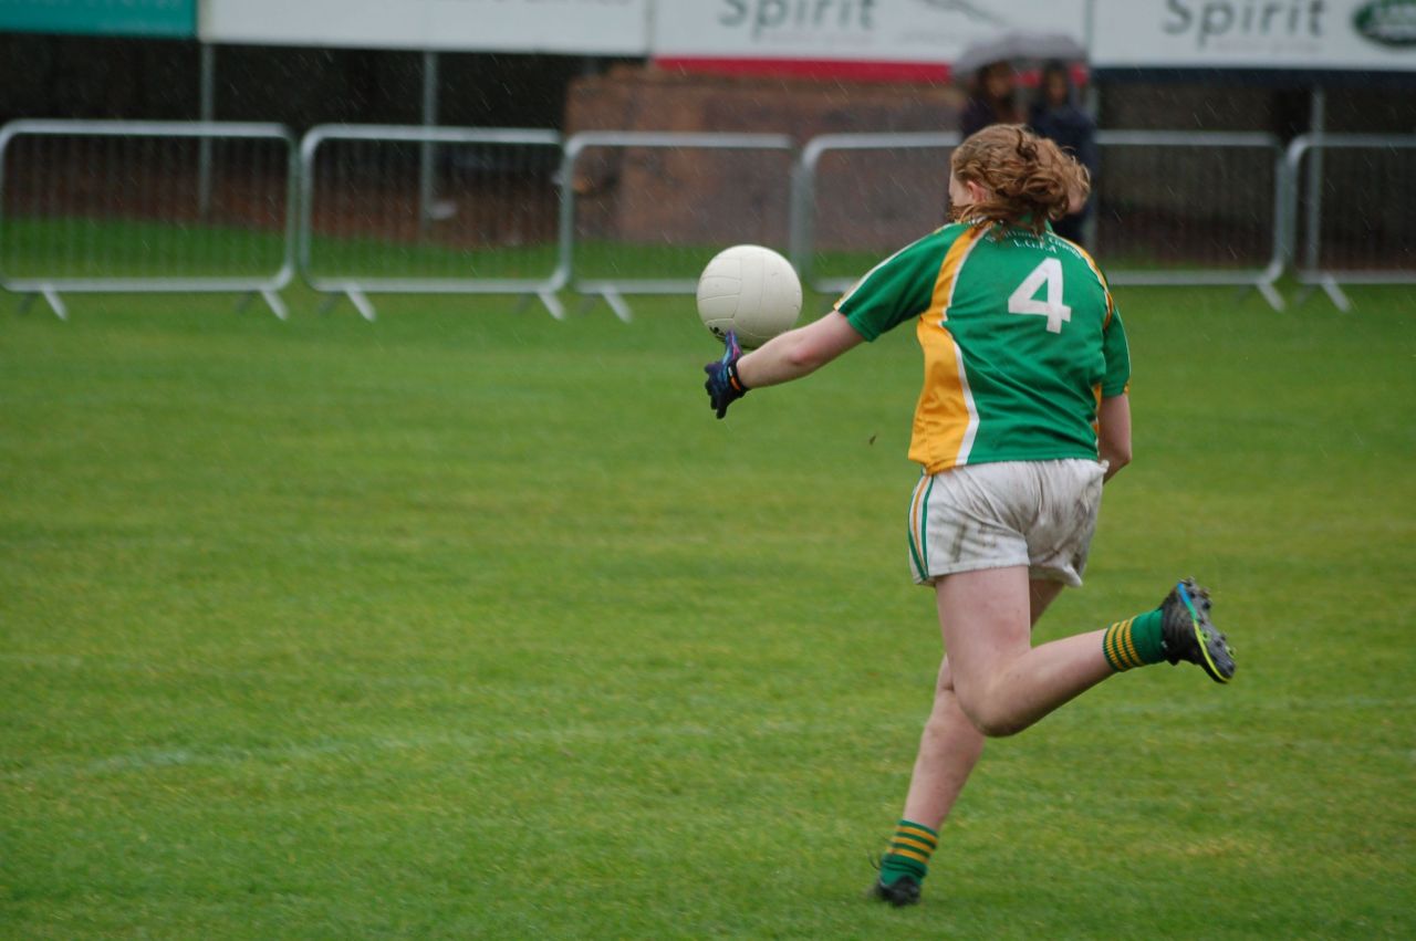
{"type": "Polygon", "coordinates": [[[923,464],[926,474],[937,474],[964,463],[973,444],[973,432],[978,426],[963,357],[944,323],[959,284],[959,272],[990,228],[993,226],[971,225],[949,246],[935,279],[929,310],[920,314],[915,328],[925,351],[925,388],[915,406],[909,460],[923,464]]]}

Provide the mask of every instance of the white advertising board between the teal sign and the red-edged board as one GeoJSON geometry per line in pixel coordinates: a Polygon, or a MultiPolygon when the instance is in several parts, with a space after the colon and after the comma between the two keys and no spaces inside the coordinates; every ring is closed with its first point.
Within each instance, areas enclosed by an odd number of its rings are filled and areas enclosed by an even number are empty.
{"type": "Polygon", "coordinates": [[[650,0],[202,0],[207,42],[644,55],[650,0]]]}

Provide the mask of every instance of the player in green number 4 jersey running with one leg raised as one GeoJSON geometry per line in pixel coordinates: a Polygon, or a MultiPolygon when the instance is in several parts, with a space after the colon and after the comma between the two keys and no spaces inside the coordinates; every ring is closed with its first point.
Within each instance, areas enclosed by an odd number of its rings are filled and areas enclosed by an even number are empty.
{"type": "Polygon", "coordinates": [[[986,736],[1008,736],[1120,671],[1188,661],[1235,672],[1191,580],[1155,610],[1032,647],[1079,586],[1102,484],[1131,458],[1126,331],[1100,269],[1052,233],[1086,170],[1021,126],[994,125],[950,160],[952,224],[877,265],[813,324],[705,366],[718,417],[749,389],[813,372],[906,321],[925,354],[909,457],[909,565],[933,586],[946,657],[902,819],[871,894],[920,883],[986,736]]]}

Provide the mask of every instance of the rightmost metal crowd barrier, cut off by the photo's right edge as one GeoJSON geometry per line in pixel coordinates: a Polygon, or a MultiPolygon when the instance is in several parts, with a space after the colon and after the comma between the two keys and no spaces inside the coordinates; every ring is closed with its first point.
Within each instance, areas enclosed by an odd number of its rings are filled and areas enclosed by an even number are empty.
{"type": "Polygon", "coordinates": [[[1416,136],[1306,134],[1287,151],[1296,209],[1284,229],[1298,283],[1321,287],[1338,310],[1340,287],[1416,283],[1416,136]]]}

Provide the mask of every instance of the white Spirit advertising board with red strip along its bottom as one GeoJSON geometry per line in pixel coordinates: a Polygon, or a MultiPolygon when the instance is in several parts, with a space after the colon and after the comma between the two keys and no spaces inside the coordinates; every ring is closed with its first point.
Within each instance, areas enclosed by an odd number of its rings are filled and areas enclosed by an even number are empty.
{"type": "Polygon", "coordinates": [[[663,65],[838,65],[935,78],[1005,33],[1082,42],[1085,24],[1086,0],[658,0],[650,45],[663,65]]]}

